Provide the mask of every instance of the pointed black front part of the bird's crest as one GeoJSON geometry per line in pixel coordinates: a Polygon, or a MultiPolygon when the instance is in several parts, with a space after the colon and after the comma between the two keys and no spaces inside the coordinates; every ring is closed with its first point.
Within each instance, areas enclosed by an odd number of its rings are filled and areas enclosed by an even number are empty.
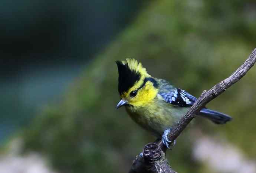
{"type": "Polygon", "coordinates": [[[123,92],[127,92],[136,81],[141,77],[140,73],[135,70],[131,70],[128,64],[123,64],[121,61],[116,61],[118,68],[118,92],[120,95],[123,92]]]}

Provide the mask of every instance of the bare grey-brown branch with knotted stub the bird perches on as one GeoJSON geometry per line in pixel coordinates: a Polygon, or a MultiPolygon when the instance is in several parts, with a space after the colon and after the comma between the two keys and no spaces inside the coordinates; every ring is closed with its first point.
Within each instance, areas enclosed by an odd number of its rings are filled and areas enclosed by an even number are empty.
{"type": "MultiPolygon", "coordinates": [[[[241,65],[230,77],[219,82],[208,91],[204,91],[197,102],[189,109],[180,122],[177,123],[169,133],[168,138],[175,140],[186,128],[188,123],[195,115],[206,106],[211,100],[219,96],[227,88],[239,81],[256,62],[256,48],[250,54],[249,58],[241,65]]],[[[175,173],[171,169],[169,162],[165,157],[166,147],[160,141],[159,145],[149,143],[143,150],[143,155],[137,156],[132,163],[129,173],[175,173]]]]}

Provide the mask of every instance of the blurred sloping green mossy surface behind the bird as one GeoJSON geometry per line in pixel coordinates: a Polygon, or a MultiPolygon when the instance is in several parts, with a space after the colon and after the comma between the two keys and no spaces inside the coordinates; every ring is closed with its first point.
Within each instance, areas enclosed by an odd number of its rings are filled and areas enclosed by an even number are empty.
{"type": "MultiPolygon", "coordinates": [[[[115,110],[119,99],[115,60],[136,58],[153,77],[165,78],[198,97],[229,76],[255,47],[256,12],[250,5],[249,0],[152,2],[87,65],[59,105],[35,118],[23,135],[25,150],[46,155],[61,172],[127,172],[135,155],[155,139],[124,109],[115,110]]],[[[253,159],[255,89],[254,67],[207,105],[231,115],[232,122],[195,123],[209,135],[227,138],[253,159]]],[[[193,137],[188,134],[185,130],[168,151],[171,165],[182,173],[206,169],[192,160],[193,137]]]]}

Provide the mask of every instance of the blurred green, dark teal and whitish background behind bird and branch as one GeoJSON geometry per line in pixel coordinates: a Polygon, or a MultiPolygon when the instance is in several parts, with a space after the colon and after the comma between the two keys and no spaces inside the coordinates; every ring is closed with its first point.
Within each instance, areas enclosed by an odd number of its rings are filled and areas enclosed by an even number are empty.
{"type": "MultiPolygon", "coordinates": [[[[115,110],[115,60],[199,96],[256,47],[253,0],[2,0],[0,172],[122,173],[155,140],[115,110]]],[[[168,151],[182,173],[256,172],[256,68],[168,151]]]]}

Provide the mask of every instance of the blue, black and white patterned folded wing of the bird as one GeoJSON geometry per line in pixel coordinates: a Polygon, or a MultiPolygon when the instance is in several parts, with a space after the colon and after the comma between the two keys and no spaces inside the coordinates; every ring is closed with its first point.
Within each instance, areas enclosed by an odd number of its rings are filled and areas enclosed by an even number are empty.
{"type": "Polygon", "coordinates": [[[163,92],[160,91],[159,94],[166,102],[174,106],[188,107],[192,106],[197,101],[196,97],[180,88],[172,88],[169,91],[165,90],[163,92]]]}

